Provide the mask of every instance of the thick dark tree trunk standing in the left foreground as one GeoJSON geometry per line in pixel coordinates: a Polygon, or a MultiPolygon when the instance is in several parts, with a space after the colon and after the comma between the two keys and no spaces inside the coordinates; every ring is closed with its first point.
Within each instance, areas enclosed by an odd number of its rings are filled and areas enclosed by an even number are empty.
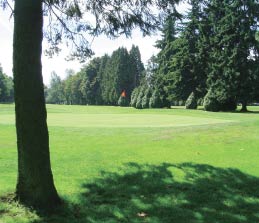
{"type": "Polygon", "coordinates": [[[17,199],[41,208],[60,202],[50,167],[42,80],[42,1],[16,0],[13,73],[18,146],[17,199]]]}

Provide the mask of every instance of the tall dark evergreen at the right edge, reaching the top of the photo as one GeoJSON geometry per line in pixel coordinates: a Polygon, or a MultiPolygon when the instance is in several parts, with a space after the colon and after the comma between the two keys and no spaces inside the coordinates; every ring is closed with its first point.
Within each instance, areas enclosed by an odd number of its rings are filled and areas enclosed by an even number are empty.
{"type": "Polygon", "coordinates": [[[233,109],[233,102],[241,102],[242,110],[246,110],[258,79],[258,69],[253,65],[258,63],[258,2],[212,1],[208,10],[215,33],[208,77],[210,98],[217,100],[220,110],[233,109]]]}

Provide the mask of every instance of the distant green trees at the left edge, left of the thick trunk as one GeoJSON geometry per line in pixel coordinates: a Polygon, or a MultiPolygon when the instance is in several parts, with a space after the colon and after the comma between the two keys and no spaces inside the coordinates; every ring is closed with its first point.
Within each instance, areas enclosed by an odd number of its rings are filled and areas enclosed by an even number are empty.
{"type": "Polygon", "coordinates": [[[13,79],[8,77],[0,64],[0,102],[9,103],[14,101],[13,79]]]}

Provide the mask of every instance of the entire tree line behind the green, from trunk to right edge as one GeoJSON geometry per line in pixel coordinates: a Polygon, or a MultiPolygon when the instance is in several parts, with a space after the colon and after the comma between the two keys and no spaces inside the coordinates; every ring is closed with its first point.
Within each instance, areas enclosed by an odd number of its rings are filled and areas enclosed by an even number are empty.
{"type": "Polygon", "coordinates": [[[146,68],[137,46],[95,58],[75,75],[53,74],[48,103],[185,105],[208,111],[247,110],[259,100],[259,4],[255,0],[190,0],[185,16],[169,15],[160,50],[146,68]]]}

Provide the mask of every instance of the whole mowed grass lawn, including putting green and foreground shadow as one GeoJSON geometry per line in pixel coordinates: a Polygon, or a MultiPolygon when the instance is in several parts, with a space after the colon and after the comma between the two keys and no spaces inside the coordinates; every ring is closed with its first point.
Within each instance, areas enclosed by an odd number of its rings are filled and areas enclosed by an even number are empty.
{"type": "MultiPolygon", "coordinates": [[[[259,108],[48,105],[54,215],[0,199],[0,223],[259,222],[259,108]]],[[[0,195],[15,190],[14,105],[0,105],[0,195]]]]}

